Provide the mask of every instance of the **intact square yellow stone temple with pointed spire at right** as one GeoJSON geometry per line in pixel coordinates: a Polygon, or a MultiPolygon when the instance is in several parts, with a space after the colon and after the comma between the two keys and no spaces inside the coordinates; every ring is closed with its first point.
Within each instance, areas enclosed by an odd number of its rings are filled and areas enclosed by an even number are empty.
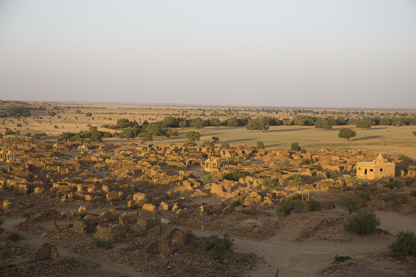
{"type": "Polygon", "coordinates": [[[385,162],[380,152],[372,162],[357,162],[357,177],[366,180],[394,177],[394,169],[395,164],[385,162]]]}

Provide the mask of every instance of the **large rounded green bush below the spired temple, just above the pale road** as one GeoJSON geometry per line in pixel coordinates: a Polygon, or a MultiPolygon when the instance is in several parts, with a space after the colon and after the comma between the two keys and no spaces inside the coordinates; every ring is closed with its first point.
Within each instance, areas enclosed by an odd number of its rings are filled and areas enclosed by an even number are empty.
{"type": "Polygon", "coordinates": [[[380,219],[376,218],[375,213],[360,210],[356,215],[348,218],[348,223],[344,225],[346,231],[365,235],[373,233],[380,225],[380,219]]]}

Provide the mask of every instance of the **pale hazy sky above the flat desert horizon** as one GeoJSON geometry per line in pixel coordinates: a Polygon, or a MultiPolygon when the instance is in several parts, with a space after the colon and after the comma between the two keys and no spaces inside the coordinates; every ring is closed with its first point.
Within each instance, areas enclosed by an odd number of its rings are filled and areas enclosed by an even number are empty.
{"type": "Polygon", "coordinates": [[[0,0],[0,99],[416,108],[416,1],[0,0]]]}

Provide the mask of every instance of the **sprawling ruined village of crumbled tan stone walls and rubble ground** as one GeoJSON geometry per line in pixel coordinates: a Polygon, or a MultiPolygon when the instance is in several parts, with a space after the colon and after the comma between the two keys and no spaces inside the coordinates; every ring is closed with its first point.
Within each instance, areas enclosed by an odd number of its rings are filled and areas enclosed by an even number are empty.
{"type": "MultiPolygon", "coordinates": [[[[416,213],[415,164],[397,154],[25,137],[3,138],[0,148],[2,276],[273,276],[279,257],[233,246],[218,260],[202,251],[206,238],[192,231],[289,246],[391,243],[387,229],[366,236],[347,232],[340,197],[359,195],[367,211],[416,213]],[[241,178],[224,179],[230,172],[241,178]],[[353,176],[367,180],[347,184],[353,176]],[[393,182],[402,186],[384,185],[393,182]],[[401,204],[383,200],[392,191],[401,204]],[[317,200],[322,210],[277,212],[292,199],[317,200]],[[11,235],[20,239],[11,241],[11,235]]],[[[416,270],[412,257],[396,260],[386,247],[375,252],[316,264],[311,275],[342,273],[363,259],[393,275],[416,270]]]]}

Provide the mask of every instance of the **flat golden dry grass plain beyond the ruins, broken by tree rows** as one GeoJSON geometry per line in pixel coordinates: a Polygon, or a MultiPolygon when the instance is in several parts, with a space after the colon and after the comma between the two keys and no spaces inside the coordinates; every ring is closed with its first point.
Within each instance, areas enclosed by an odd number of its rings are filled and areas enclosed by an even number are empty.
{"type": "MultiPolygon", "coordinates": [[[[66,106],[62,103],[62,106],[66,106]]],[[[70,109],[64,108],[64,113],[57,113],[54,117],[49,116],[52,111],[51,107],[47,110],[31,110],[31,117],[21,118],[20,121],[15,118],[3,118],[5,124],[2,129],[10,128],[14,131],[20,130],[19,136],[26,133],[42,133],[46,132],[48,137],[45,140],[57,140],[62,132],[79,132],[81,130],[88,130],[88,124],[99,127],[105,124],[116,124],[120,118],[127,118],[130,121],[136,120],[139,123],[147,120],[149,123],[163,120],[167,115],[174,117],[195,118],[201,116],[202,118],[210,118],[212,111],[218,108],[208,109],[206,107],[197,106],[146,106],[146,105],[117,105],[117,104],[103,104],[103,105],[89,105],[79,106],[80,114],[76,113],[76,108],[71,105],[70,109]],[[198,110],[201,109],[201,110],[198,110]],[[203,109],[206,109],[206,117],[203,117],[203,109]],[[185,111],[184,116],[182,112],[185,111]],[[188,111],[188,112],[186,112],[188,111]],[[86,117],[86,113],[92,113],[91,117],[86,117]],[[61,118],[58,118],[60,116],[61,118]],[[42,119],[33,119],[34,117],[42,117],[42,119]],[[21,123],[22,127],[17,127],[21,123]],[[54,128],[54,126],[58,128],[54,128]]],[[[224,110],[224,109],[223,109],[224,110]]],[[[221,111],[221,109],[219,109],[221,111]]],[[[265,112],[250,112],[252,116],[268,115],[279,117],[292,117],[290,114],[267,114],[265,112]]],[[[234,115],[216,116],[220,120],[225,120],[234,115]]],[[[311,116],[311,114],[310,114],[311,116]]],[[[326,115],[325,115],[326,116],[326,115]]],[[[334,116],[336,117],[336,116],[334,116]]],[[[179,137],[167,139],[166,137],[154,137],[151,143],[156,145],[164,144],[184,144],[186,142],[184,133],[192,128],[178,128],[179,137]]],[[[389,154],[404,154],[413,159],[416,159],[416,137],[412,131],[416,130],[416,126],[372,126],[371,129],[358,129],[352,125],[333,126],[331,130],[322,131],[316,129],[314,126],[271,126],[268,131],[257,132],[249,131],[244,127],[205,127],[200,129],[201,138],[199,144],[204,140],[211,140],[213,136],[218,136],[221,142],[228,142],[230,146],[248,145],[255,146],[258,140],[265,143],[267,149],[288,149],[293,142],[298,142],[301,147],[306,149],[316,148],[339,148],[339,149],[368,149],[373,152],[381,151],[384,155],[389,154]],[[352,128],[357,132],[355,138],[347,142],[345,139],[338,138],[338,129],[340,127],[352,128]]],[[[197,131],[197,130],[196,130],[197,131]]],[[[4,131],[0,131],[4,133],[4,131]]],[[[104,138],[103,142],[107,143],[137,143],[139,140],[133,139],[127,142],[126,139],[104,138]]]]}

